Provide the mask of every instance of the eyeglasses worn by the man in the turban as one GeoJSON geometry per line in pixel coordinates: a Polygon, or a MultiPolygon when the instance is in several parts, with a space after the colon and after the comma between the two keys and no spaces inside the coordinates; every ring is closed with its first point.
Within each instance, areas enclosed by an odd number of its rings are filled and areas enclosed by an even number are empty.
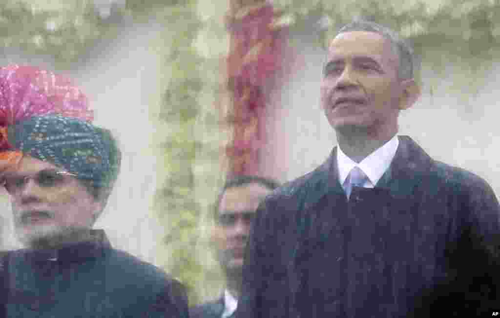
{"type": "Polygon", "coordinates": [[[76,177],[76,174],[56,169],[43,169],[33,175],[2,175],[0,184],[8,193],[15,194],[21,191],[29,179],[43,188],[50,188],[65,183],[68,176],[76,177]]]}

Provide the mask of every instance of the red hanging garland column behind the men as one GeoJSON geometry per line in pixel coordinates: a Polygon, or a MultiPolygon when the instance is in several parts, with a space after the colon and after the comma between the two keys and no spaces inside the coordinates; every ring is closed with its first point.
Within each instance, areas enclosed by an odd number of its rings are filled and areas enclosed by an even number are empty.
{"type": "Polygon", "coordinates": [[[228,173],[258,175],[260,149],[266,142],[264,87],[281,67],[284,37],[273,27],[275,13],[269,2],[230,0],[230,7],[227,78],[233,138],[226,148],[228,173]]]}

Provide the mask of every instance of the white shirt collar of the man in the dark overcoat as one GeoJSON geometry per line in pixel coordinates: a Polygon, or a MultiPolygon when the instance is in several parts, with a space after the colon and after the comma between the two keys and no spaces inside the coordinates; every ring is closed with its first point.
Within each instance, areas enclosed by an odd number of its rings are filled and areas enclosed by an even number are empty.
{"type": "Polygon", "coordinates": [[[382,147],[376,149],[359,163],[347,157],[342,149],[340,149],[340,146],[337,147],[337,166],[340,184],[344,184],[350,170],[357,166],[368,177],[368,184],[366,185],[368,187],[375,186],[382,177],[382,174],[389,168],[390,162],[394,158],[398,146],[399,140],[397,136],[394,136],[383,144],[382,147]]]}

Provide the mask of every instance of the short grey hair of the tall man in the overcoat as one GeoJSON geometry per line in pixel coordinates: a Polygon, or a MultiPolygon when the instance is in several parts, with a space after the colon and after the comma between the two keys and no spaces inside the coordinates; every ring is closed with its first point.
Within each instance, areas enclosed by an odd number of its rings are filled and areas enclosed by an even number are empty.
{"type": "Polygon", "coordinates": [[[415,57],[411,45],[395,31],[375,22],[357,19],[344,25],[337,35],[344,32],[367,31],[378,33],[390,41],[394,53],[399,57],[398,76],[400,79],[411,79],[414,76],[415,57]]]}

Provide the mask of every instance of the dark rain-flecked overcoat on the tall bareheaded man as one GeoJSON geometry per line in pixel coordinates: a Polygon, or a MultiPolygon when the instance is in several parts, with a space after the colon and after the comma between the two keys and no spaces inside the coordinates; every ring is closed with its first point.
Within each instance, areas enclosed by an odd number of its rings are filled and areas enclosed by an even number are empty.
{"type": "Polygon", "coordinates": [[[484,180],[409,137],[376,186],[347,201],[335,148],[260,204],[236,317],[491,315],[499,215],[484,180]]]}

